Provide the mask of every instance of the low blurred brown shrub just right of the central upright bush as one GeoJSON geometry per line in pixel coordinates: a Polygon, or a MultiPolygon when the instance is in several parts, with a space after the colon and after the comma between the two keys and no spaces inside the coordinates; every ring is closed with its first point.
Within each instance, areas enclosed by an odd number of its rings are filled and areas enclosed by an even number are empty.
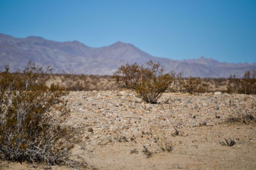
{"type": "Polygon", "coordinates": [[[202,78],[200,77],[183,77],[183,72],[180,72],[176,75],[174,80],[174,87],[176,91],[195,93],[195,92],[205,92],[208,88],[208,84],[204,84],[202,78]]]}

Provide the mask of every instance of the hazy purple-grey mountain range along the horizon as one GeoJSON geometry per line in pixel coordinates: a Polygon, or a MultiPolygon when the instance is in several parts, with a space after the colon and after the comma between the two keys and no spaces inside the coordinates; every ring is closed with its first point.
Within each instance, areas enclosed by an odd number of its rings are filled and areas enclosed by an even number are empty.
{"type": "Polygon", "coordinates": [[[29,61],[41,66],[52,66],[54,73],[112,75],[122,64],[143,64],[153,60],[165,66],[165,70],[184,71],[187,76],[242,77],[249,69],[256,69],[256,62],[226,63],[200,57],[191,60],[171,60],[153,57],[133,44],[116,42],[110,46],[92,48],[78,41],[56,42],[42,37],[15,38],[0,34],[0,70],[9,64],[11,71],[22,69],[29,61]]]}

